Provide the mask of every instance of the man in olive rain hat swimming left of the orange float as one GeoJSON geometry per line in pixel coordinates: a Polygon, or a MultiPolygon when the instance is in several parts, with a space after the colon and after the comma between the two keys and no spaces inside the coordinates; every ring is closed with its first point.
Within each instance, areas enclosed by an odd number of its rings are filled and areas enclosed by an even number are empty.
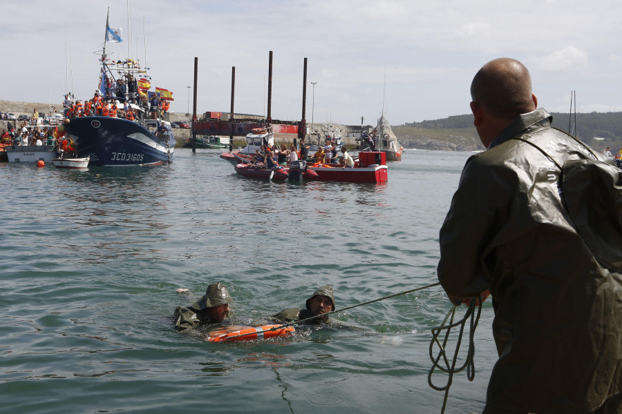
{"type": "Polygon", "coordinates": [[[233,299],[229,290],[222,283],[207,286],[203,295],[195,304],[182,308],[177,306],[173,322],[178,331],[207,324],[217,324],[229,318],[229,304],[233,299]]]}

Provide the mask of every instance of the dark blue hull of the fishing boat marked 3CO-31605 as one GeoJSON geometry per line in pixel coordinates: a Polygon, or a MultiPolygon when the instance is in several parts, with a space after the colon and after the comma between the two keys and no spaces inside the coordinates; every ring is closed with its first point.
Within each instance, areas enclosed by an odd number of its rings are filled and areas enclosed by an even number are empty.
{"type": "Polygon", "coordinates": [[[153,135],[142,125],[121,118],[84,117],[65,126],[80,158],[89,157],[93,166],[145,166],[173,160],[172,132],[153,135]]]}

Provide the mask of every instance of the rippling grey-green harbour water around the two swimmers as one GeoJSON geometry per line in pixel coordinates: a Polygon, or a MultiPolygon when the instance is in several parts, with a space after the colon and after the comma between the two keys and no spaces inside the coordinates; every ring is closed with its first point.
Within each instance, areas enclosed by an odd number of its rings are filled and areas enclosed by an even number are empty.
{"type": "MultiPolygon", "coordinates": [[[[440,413],[428,385],[431,328],[451,308],[440,287],[263,342],[206,342],[171,315],[212,282],[241,324],[303,307],[323,284],[339,309],[437,282],[438,231],[471,154],[407,150],[385,184],[247,179],[218,154],[0,164],[1,411],[440,413]]],[[[484,405],[492,314],[484,304],[475,380],[453,377],[446,413],[484,405]]]]}

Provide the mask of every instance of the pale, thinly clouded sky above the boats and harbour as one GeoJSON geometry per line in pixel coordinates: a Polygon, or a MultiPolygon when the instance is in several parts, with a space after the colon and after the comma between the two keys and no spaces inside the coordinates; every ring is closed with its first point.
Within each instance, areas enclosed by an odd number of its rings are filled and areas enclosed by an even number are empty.
{"type": "MultiPolygon", "coordinates": [[[[498,57],[531,72],[538,106],[622,111],[619,0],[0,0],[0,100],[62,103],[97,88],[106,12],[122,29],[115,60],[138,57],[171,111],[393,125],[469,113],[475,72],[498,57]],[[315,84],[312,85],[312,82],[315,84]],[[188,87],[191,88],[188,88],[188,87]]],[[[1,108],[0,108],[1,110],[1,108]]],[[[39,109],[41,111],[41,109],[39,109]]]]}

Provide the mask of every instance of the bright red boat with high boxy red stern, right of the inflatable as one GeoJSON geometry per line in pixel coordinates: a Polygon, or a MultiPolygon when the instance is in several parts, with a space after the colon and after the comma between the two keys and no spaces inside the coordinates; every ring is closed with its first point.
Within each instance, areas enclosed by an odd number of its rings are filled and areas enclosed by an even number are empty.
{"type": "Polygon", "coordinates": [[[308,167],[308,170],[314,170],[320,181],[384,183],[388,180],[386,153],[379,151],[359,152],[359,161],[353,168],[320,164],[308,167]]]}

